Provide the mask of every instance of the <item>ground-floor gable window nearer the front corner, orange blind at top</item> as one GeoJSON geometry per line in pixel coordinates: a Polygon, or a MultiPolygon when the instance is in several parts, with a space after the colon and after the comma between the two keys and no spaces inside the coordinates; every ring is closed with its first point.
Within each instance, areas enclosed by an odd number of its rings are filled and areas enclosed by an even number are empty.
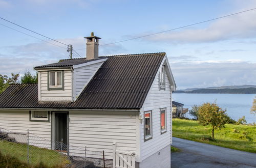
{"type": "Polygon", "coordinates": [[[144,112],[144,139],[152,138],[152,111],[144,112]]]}

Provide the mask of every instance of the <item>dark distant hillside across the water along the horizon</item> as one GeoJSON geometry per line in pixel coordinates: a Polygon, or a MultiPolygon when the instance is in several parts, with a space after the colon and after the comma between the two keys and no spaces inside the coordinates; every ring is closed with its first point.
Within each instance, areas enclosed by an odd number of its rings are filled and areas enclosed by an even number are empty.
{"type": "Polygon", "coordinates": [[[256,94],[256,88],[241,88],[241,89],[198,89],[198,90],[194,90],[194,91],[174,91],[174,93],[256,94]]]}

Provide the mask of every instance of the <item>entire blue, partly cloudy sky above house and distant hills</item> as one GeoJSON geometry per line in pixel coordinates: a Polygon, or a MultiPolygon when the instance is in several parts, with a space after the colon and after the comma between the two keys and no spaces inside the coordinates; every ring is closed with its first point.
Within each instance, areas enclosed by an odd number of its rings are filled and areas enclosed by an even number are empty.
{"type": "MultiPolygon", "coordinates": [[[[72,44],[81,57],[86,57],[83,37],[90,36],[91,32],[101,37],[100,44],[108,44],[252,8],[256,8],[254,0],[0,0],[0,17],[72,44]]],[[[154,36],[99,46],[99,54],[166,52],[177,89],[256,85],[255,20],[256,10],[252,10],[154,36]]],[[[23,75],[28,70],[34,73],[35,66],[69,58],[66,45],[2,19],[0,38],[0,74],[23,75]]],[[[78,54],[74,57],[79,58],[78,54]]]]}

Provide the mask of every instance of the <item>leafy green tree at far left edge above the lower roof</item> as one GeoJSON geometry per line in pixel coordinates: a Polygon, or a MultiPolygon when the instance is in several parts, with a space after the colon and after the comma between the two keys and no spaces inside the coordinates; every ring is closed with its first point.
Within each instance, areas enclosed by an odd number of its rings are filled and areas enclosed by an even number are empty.
{"type": "Polygon", "coordinates": [[[11,77],[0,74],[0,93],[4,92],[11,84],[18,83],[19,74],[11,74],[11,77]]]}

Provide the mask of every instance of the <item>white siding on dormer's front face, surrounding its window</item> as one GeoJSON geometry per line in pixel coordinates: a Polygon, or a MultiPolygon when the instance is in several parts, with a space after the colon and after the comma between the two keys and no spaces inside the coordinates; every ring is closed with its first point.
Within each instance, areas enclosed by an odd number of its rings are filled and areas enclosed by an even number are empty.
{"type": "Polygon", "coordinates": [[[38,85],[38,92],[40,95],[39,100],[41,101],[71,101],[72,100],[72,72],[71,70],[65,70],[64,72],[64,90],[48,90],[48,72],[47,71],[39,71],[40,78],[38,85]]]}

